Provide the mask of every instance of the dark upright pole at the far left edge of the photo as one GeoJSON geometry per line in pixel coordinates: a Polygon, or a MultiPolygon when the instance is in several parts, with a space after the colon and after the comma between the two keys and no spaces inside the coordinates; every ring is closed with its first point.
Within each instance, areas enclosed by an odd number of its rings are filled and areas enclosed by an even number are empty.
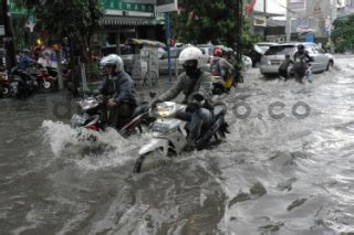
{"type": "Polygon", "coordinates": [[[12,67],[15,66],[15,52],[14,52],[14,42],[13,42],[13,29],[12,29],[12,21],[11,21],[11,13],[9,8],[9,0],[2,0],[2,15],[3,15],[3,24],[4,24],[4,38],[3,44],[6,47],[6,65],[8,72],[11,71],[12,67]]]}

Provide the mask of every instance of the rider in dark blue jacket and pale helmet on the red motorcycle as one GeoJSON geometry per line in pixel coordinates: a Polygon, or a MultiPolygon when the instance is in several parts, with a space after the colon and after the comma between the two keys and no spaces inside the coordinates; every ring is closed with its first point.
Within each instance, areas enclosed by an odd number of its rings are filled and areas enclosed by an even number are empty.
{"type": "Polygon", "coordinates": [[[111,97],[106,103],[110,117],[104,118],[108,125],[121,129],[137,107],[136,90],[132,77],[124,72],[123,60],[116,54],[110,54],[100,62],[106,77],[100,87],[100,94],[111,97]]]}

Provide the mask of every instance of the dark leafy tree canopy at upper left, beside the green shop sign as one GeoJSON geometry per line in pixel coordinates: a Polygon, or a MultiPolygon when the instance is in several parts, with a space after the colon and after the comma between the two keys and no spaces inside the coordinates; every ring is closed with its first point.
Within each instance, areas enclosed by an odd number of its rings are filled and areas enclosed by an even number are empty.
{"type": "Polygon", "coordinates": [[[81,42],[82,52],[91,60],[91,38],[100,28],[104,14],[101,0],[14,0],[33,12],[40,29],[52,43],[70,36],[81,42]],[[88,52],[88,53],[87,53],[88,52]]]}

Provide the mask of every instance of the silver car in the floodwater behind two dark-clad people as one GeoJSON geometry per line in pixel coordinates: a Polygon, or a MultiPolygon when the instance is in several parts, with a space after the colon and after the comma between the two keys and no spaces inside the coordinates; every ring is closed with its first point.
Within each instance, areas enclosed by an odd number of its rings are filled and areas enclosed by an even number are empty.
{"type": "Polygon", "coordinates": [[[325,53],[315,43],[284,43],[272,45],[264,53],[261,58],[260,72],[263,75],[275,75],[285,55],[289,54],[293,58],[294,53],[298,51],[298,45],[303,44],[310,56],[313,57],[312,71],[322,72],[329,71],[334,64],[334,58],[331,54],[325,53]]]}

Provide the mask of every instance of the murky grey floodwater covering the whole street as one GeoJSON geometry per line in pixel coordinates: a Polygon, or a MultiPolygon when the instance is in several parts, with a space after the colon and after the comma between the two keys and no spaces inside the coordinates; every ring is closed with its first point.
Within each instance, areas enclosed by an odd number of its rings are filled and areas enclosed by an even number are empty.
{"type": "Polygon", "coordinates": [[[139,175],[149,133],[91,151],[65,94],[0,99],[0,234],[354,233],[354,64],[335,64],[304,85],[249,70],[225,142],[139,175]]]}

